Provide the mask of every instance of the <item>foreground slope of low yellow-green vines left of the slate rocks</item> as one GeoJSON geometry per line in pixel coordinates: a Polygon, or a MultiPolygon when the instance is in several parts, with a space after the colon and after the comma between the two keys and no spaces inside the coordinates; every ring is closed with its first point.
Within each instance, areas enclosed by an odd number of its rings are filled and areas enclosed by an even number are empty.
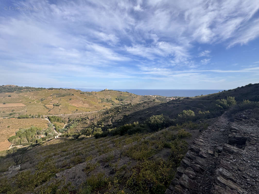
{"type": "MultiPolygon", "coordinates": [[[[181,139],[189,135],[183,130],[169,128],[154,133],[99,139],[53,139],[27,151],[32,161],[22,165],[22,172],[13,179],[23,177],[26,182],[27,178],[32,178],[26,169],[50,173],[44,179],[46,184],[27,185],[19,188],[20,193],[26,193],[29,188],[35,189],[36,193],[47,193],[53,189],[50,184],[53,181],[60,185],[56,189],[67,188],[75,193],[89,189],[92,193],[163,193],[179,165],[172,154],[178,150],[179,158],[183,156],[187,143],[181,139]]],[[[6,170],[11,160],[2,159],[1,163],[4,164],[1,170],[6,170]]],[[[15,192],[16,189],[18,187],[14,186],[11,190],[15,192]]]]}

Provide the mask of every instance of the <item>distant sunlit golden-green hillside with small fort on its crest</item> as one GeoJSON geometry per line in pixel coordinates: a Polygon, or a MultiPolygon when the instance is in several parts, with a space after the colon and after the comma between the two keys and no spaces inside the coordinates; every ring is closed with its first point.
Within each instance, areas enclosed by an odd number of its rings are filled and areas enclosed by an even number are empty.
{"type": "Polygon", "coordinates": [[[75,89],[7,85],[0,86],[0,117],[81,113],[154,99],[151,96],[113,90],[82,92],[75,89]]]}

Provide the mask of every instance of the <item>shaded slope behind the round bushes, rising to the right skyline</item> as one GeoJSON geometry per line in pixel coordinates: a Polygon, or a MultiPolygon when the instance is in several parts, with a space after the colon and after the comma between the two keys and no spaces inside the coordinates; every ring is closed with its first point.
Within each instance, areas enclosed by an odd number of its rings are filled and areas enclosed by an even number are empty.
{"type": "Polygon", "coordinates": [[[115,107],[102,113],[95,113],[91,116],[76,118],[73,123],[72,131],[79,132],[87,127],[98,127],[102,123],[104,125],[103,130],[105,131],[108,128],[121,126],[127,123],[137,121],[143,123],[148,117],[160,114],[176,119],[178,114],[183,110],[192,110],[196,114],[196,117],[200,116],[200,118],[205,118],[205,115],[199,115],[199,111],[209,111],[210,114],[208,114],[206,118],[214,118],[225,111],[223,108],[218,108],[217,100],[227,99],[227,96],[235,97],[235,100],[238,102],[242,102],[243,100],[259,101],[259,84],[249,84],[247,86],[215,94],[175,99],[166,103],[149,101],[135,105],[128,104],[115,107]]]}

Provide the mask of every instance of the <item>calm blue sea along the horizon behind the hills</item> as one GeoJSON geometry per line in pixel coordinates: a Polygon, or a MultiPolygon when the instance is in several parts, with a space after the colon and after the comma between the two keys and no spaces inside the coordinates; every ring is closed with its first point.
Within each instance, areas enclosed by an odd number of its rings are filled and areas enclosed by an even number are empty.
{"type": "MultiPolygon", "coordinates": [[[[101,91],[103,89],[83,89],[83,92],[101,91]]],[[[137,95],[160,95],[160,96],[199,96],[221,92],[222,89],[113,89],[122,92],[130,92],[137,95]]]]}

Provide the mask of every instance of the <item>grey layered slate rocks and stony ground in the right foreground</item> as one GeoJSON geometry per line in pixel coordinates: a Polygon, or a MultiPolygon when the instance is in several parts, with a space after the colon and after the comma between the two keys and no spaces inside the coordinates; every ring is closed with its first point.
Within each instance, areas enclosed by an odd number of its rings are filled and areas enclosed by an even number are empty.
{"type": "Polygon", "coordinates": [[[233,122],[226,112],[202,131],[165,194],[259,193],[259,122],[250,111],[233,122]]]}

